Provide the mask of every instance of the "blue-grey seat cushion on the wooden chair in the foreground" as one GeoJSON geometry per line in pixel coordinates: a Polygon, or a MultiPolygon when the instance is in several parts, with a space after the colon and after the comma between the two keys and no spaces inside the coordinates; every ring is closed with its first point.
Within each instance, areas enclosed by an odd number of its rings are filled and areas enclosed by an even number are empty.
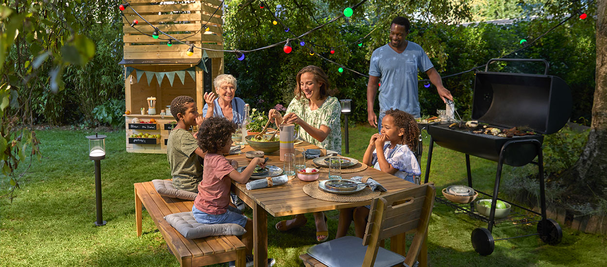
{"type": "MultiPolygon", "coordinates": [[[[352,236],[340,237],[308,249],[308,255],[330,267],[362,266],[366,252],[367,246],[362,246],[362,238],[352,236]]],[[[402,255],[380,247],[373,266],[407,266],[404,261],[402,255]]]]}

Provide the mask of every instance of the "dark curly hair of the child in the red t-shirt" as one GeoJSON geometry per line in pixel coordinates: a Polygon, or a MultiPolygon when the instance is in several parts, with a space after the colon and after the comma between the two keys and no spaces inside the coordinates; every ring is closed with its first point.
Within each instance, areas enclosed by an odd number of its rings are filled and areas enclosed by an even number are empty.
{"type": "Polygon", "coordinates": [[[236,132],[236,123],[224,117],[205,119],[196,133],[198,147],[203,152],[217,153],[236,132]]]}

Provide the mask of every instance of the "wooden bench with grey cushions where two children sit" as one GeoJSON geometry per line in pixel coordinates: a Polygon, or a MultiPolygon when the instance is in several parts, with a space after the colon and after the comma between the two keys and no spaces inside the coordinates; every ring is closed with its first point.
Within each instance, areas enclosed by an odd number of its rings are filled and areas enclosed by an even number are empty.
{"type": "Polygon", "coordinates": [[[186,239],[164,220],[164,216],[192,211],[194,201],[158,195],[151,181],[135,183],[135,225],[141,236],[141,204],[152,220],[171,252],[181,266],[206,266],[236,260],[236,266],[245,266],[245,245],[235,235],[220,235],[186,239]]]}

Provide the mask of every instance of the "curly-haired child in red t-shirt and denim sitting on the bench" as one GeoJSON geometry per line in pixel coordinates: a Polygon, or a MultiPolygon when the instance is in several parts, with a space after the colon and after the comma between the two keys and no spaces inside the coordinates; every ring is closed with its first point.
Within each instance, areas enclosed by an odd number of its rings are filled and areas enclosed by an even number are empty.
{"type": "MultiPolygon", "coordinates": [[[[206,152],[203,171],[205,178],[198,184],[198,195],[194,200],[192,213],[198,223],[237,223],[245,228],[246,233],[241,239],[247,249],[247,262],[253,262],[253,221],[229,206],[229,190],[232,180],[246,183],[256,165],[265,166],[265,159],[253,158],[242,172],[236,171],[232,166],[236,160],[223,157],[223,154],[229,153],[231,137],[235,131],[236,124],[223,117],[207,118],[200,126],[197,138],[198,146],[206,152]]],[[[268,266],[273,264],[274,260],[268,259],[268,266]]]]}

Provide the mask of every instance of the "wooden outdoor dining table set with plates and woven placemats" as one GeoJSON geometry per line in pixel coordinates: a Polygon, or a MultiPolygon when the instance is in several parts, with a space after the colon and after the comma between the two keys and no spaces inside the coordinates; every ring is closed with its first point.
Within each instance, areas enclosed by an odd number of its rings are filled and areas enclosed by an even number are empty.
{"type": "MultiPolygon", "coordinates": [[[[295,145],[295,148],[319,149],[313,144],[304,142],[295,145]]],[[[239,166],[246,166],[249,161],[246,160],[245,152],[254,150],[250,146],[242,149],[242,154],[229,155],[226,158],[235,159],[239,166]]],[[[283,167],[283,162],[279,159],[279,151],[272,154],[266,154],[269,157],[268,165],[283,167]]],[[[417,184],[402,180],[394,175],[373,169],[369,166],[365,171],[354,172],[352,174],[342,174],[343,178],[354,176],[370,175],[374,180],[384,186],[388,192],[394,192],[401,189],[413,188],[417,184]]],[[[326,180],[328,174],[321,173],[319,180],[326,180]]],[[[237,183],[232,180],[232,189],[236,195],[249,207],[253,209],[253,251],[254,263],[256,267],[265,267],[268,263],[268,214],[274,217],[286,215],[306,214],[310,212],[332,211],[334,209],[352,208],[371,204],[371,200],[361,202],[333,202],[319,200],[304,193],[304,186],[310,182],[301,181],[294,178],[286,184],[273,186],[271,188],[262,188],[247,190],[245,184],[237,183]]],[[[385,192],[382,192],[385,194],[385,192]]],[[[274,230],[274,227],[270,230],[274,230]]],[[[405,253],[405,234],[397,235],[391,239],[392,251],[406,256],[405,253]]],[[[419,255],[419,266],[427,266],[427,249],[424,241],[424,248],[419,255]]]]}

